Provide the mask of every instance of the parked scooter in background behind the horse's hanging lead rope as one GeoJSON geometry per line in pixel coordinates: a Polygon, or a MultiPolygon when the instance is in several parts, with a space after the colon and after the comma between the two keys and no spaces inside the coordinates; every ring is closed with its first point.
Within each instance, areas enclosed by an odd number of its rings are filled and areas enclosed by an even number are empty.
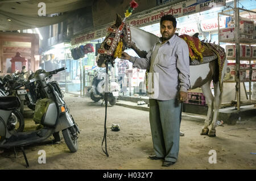
{"type": "MultiPolygon", "coordinates": [[[[90,89],[88,89],[88,95],[90,95],[90,98],[94,102],[98,102],[101,99],[104,100],[105,77],[106,77],[105,69],[97,69],[93,75],[92,87],[90,89]]],[[[108,94],[108,100],[109,100],[109,103],[112,106],[114,106],[115,103],[117,102],[117,97],[118,97],[118,92],[120,91],[120,86],[118,85],[117,82],[111,81],[111,78],[109,78],[109,90],[110,91],[108,94]]]]}

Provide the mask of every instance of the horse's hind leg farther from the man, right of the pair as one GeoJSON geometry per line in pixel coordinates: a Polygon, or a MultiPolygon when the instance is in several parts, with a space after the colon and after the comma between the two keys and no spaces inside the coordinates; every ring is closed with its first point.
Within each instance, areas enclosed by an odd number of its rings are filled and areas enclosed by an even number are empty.
{"type": "Polygon", "coordinates": [[[221,103],[221,93],[222,93],[220,91],[219,82],[213,83],[213,85],[214,85],[214,113],[213,113],[212,123],[209,126],[209,133],[208,133],[209,137],[216,136],[215,127],[216,127],[216,120],[218,116],[218,108],[220,107],[220,103],[221,103]]]}

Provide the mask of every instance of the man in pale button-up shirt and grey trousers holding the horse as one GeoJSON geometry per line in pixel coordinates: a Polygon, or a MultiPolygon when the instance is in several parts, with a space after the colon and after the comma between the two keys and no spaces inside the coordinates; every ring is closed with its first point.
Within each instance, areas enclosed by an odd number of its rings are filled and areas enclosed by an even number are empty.
{"type": "Polygon", "coordinates": [[[162,16],[162,37],[146,58],[132,57],[122,52],[122,58],[133,62],[133,66],[149,70],[150,127],[155,155],[148,158],[164,159],[163,166],[173,165],[177,161],[181,103],[187,99],[190,87],[188,45],[175,35],[176,24],[174,16],[162,16]]]}

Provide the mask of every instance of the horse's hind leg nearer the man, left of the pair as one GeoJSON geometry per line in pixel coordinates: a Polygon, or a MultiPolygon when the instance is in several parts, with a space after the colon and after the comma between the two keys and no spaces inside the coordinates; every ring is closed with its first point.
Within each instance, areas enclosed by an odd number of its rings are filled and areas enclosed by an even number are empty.
{"type": "Polygon", "coordinates": [[[201,135],[208,134],[209,132],[209,125],[212,122],[212,111],[213,111],[213,95],[212,91],[210,90],[210,82],[208,81],[205,83],[201,88],[203,90],[204,96],[206,98],[207,104],[208,104],[208,112],[207,112],[207,118],[204,121],[204,127],[202,129],[201,135]]]}

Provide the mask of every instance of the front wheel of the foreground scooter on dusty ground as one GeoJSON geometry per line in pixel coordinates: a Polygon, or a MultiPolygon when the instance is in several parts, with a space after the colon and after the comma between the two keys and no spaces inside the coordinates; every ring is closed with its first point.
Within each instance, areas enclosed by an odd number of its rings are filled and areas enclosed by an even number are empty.
{"type": "Polygon", "coordinates": [[[68,149],[72,153],[76,152],[78,150],[77,136],[73,136],[73,134],[72,134],[72,131],[75,131],[75,130],[76,130],[75,128],[70,127],[70,128],[64,129],[62,131],[65,143],[68,146],[68,149]]]}

